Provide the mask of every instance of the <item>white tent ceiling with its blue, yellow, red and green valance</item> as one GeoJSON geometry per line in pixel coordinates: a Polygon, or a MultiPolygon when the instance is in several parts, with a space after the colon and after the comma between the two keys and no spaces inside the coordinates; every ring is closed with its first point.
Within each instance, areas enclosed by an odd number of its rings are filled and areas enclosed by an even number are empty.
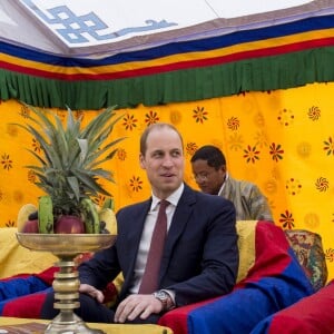
{"type": "Polygon", "coordinates": [[[334,1],[263,2],[2,0],[0,98],[125,108],[333,81],[334,1]]]}

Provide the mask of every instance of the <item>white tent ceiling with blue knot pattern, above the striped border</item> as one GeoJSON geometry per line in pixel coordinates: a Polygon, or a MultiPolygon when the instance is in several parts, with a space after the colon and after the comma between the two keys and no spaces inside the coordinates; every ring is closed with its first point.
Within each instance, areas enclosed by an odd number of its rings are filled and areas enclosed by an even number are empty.
{"type": "Polygon", "coordinates": [[[226,7],[220,0],[1,0],[0,41],[105,57],[293,21],[331,2],[235,0],[226,7]]]}

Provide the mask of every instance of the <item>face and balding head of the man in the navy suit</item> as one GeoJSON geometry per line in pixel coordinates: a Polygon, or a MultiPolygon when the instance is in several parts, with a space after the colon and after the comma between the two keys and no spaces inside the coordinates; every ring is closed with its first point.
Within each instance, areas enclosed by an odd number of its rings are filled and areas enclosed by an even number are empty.
{"type": "Polygon", "coordinates": [[[145,156],[140,155],[139,159],[157,197],[168,197],[183,183],[183,145],[173,129],[153,129],[147,137],[145,156]]]}

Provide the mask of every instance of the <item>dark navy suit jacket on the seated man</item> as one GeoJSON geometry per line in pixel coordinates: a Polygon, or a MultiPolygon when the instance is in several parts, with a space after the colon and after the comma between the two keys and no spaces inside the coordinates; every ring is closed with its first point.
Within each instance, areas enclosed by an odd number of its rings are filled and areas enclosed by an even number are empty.
{"type": "MultiPolygon", "coordinates": [[[[104,288],[120,272],[119,298],[128,295],[137,250],[151,199],[117,214],[116,244],[79,267],[80,282],[104,288]]],[[[169,227],[160,268],[160,288],[175,291],[177,306],[232,291],[238,269],[234,205],[185,186],[169,227]]]]}

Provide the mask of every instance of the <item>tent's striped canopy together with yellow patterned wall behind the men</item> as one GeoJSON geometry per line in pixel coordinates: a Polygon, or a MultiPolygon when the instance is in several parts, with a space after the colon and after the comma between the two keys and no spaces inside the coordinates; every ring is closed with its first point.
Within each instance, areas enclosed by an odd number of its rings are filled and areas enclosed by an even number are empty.
{"type": "Polygon", "coordinates": [[[2,0],[0,226],[41,195],[26,168],[40,147],[14,126],[27,122],[24,104],[87,121],[116,106],[111,139],[126,137],[106,164],[116,209],[150,195],[139,136],[167,121],[184,136],[188,185],[194,151],[218,146],[276,225],[322,236],[332,279],[334,3],[271,2],[2,0]]]}

